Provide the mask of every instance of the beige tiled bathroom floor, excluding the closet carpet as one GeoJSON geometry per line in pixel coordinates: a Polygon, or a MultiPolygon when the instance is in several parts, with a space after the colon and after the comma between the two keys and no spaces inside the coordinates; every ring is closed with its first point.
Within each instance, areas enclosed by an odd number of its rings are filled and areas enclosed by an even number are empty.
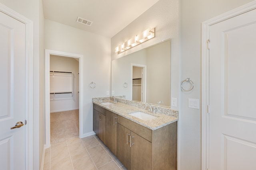
{"type": "Polygon", "coordinates": [[[96,136],[72,137],[45,150],[44,170],[126,170],[96,136]]]}

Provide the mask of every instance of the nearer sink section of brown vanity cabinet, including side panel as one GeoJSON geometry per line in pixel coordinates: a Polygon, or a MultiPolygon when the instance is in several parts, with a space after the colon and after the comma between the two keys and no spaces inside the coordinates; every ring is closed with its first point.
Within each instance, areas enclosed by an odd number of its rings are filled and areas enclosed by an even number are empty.
{"type": "Polygon", "coordinates": [[[128,170],[176,170],[176,122],[152,131],[122,116],[117,120],[117,158],[128,170]]]}

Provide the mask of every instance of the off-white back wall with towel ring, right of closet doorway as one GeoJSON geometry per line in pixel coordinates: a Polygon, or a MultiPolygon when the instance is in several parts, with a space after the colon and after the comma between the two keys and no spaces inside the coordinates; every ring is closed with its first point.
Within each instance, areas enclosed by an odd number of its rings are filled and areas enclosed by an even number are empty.
{"type": "Polygon", "coordinates": [[[83,134],[92,132],[92,98],[110,90],[110,38],[45,20],[44,45],[48,50],[83,55],[83,134]],[[96,88],[89,88],[91,82],[96,88]]]}

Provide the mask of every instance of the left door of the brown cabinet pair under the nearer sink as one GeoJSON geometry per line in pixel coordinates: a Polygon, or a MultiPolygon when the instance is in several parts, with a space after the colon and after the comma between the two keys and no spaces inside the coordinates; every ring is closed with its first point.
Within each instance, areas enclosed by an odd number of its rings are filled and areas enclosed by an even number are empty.
{"type": "Polygon", "coordinates": [[[126,127],[117,124],[117,155],[116,157],[130,170],[131,153],[130,153],[130,133],[126,127]],[[128,142],[129,141],[129,142],[128,142]]]}

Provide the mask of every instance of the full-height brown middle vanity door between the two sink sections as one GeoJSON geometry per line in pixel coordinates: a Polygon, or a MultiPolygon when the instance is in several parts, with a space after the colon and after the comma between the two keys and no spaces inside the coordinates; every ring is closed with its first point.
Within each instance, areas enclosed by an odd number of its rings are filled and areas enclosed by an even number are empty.
{"type": "Polygon", "coordinates": [[[106,111],[106,146],[116,156],[117,147],[117,115],[111,111],[106,111]]]}

